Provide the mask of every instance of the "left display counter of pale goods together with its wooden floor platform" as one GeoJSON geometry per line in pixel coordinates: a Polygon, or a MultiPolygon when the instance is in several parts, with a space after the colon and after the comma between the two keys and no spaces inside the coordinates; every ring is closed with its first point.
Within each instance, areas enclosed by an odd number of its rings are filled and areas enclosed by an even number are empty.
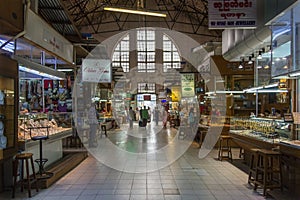
{"type": "Polygon", "coordinates": [[[20,115],[18,125],[19,148],[33,153],[35,171],[43,179],[42,188],[50,186],[87,156],[64,154],[63,140],[73,134],[70,113],[20,115]]]}

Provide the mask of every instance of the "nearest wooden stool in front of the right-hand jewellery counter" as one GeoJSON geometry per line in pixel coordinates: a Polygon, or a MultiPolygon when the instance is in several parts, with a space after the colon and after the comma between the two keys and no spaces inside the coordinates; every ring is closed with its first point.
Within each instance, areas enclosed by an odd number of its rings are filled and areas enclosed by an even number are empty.
{"type": "Polygon", "coordinates": [[[261,186],[263,188],[263,195],[266,196],[267,189],[282,189],[280,164],[279,152],[259,149],[257,151],[254,190],[256,190],[258,186],[261,186]],[[259,178],[259,175],[261,175],[261,178],[259,178]]]}

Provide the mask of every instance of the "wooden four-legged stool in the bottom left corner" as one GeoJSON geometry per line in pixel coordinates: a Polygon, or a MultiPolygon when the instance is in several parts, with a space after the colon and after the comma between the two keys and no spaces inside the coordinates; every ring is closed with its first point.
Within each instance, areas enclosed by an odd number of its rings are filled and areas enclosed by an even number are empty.
{"type": "Polygon", "coordinates": [[[32,153],[21,153],[17,154],[13,161],[13,190],[12,198],[15,198],[16,186],[18,183],[21,184],[21,192],[24,190],[24,186],[27,187],[28,197],[31,197],[31,184],[35,183],[36,191],[39,191],[37,177],[34,171],[32,153]],[[32,176],[29,174],[29,160],[31,164],[32,176]],[[24,179],[24,161],[26,164],[26,179],[24,179]],[[19,162],[21,162],[21,171],[18,173],[19,162]],[[20,180],[17,182],[17,177],[20,176],[20,180]]]}

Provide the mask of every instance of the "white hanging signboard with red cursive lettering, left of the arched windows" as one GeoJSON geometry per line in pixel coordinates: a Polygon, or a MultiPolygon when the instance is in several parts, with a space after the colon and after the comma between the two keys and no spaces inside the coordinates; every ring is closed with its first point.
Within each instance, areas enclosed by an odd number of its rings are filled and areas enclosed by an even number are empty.
{"type": "Polygon", "coordinates": [[[110,83],[110,60],[84,59],[82,62],[82,81],[93,83],[110,83]]]}

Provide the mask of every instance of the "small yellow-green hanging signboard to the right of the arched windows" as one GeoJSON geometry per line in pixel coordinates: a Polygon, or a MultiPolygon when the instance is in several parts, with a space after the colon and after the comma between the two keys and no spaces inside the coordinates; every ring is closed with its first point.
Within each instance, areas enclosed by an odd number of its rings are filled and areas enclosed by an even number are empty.
{"type": "Polygon", "coordinates": [[[195,77],[192,73],[181,74],[181,97],[195,96],[195,77]]]}

